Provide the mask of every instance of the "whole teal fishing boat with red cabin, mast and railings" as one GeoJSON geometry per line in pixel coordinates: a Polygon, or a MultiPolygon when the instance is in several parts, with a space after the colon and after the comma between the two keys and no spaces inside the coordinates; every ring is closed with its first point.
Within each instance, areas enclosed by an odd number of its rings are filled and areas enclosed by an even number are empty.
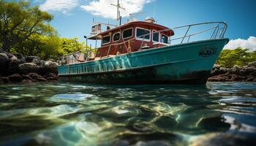
{"type": "MultiPolygon", "coordinates": [[[[116,5],[120,9],[120,5],[116,5]]],[[[227,23],[207,22],[169,28],[154,18],[118,25],[94,23],[91,36],[101,45],[93,57],[59,59],[59,80],[100,84],[206,84],[229,39],[227,23]],[[102,31],[106,25],[107,30],[102,31]],[[201,27],[201,29],[200,29],[201,27]],[[180,30],[184,34],[176,37],[180,30]],[[177,33],[176,33],[177,32],[177,33]]]]}

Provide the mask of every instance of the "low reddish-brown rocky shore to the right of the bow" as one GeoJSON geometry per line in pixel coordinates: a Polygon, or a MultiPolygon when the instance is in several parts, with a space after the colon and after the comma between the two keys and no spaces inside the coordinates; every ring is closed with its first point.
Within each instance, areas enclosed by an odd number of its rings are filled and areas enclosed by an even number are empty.
{"type": "Polygon", "coordinates": [[[256,82],[256,61],[248,66],[233,66],[226,69],[219,65],[214,65],[211,71],[209,82],[256,82]]]}

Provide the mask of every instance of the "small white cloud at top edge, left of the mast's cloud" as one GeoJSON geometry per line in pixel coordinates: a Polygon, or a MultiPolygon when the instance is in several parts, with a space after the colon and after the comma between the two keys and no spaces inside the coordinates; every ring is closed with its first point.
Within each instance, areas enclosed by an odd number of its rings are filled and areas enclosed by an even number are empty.
{"type": "Polygon", "coordinates": [[[67,14],[70,10],[78,7],[79,0],[46,0],[40,5],[40,9],[50,12],[63,12],[67,14]]]}

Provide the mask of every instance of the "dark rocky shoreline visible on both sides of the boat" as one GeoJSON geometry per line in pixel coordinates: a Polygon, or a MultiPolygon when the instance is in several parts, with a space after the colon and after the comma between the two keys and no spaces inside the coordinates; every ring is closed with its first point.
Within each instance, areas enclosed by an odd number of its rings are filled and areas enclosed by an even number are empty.
{"type": "MultiPolygon", "coordinates": [[[[8,82],[58,82],[58,64],[0,50],[0,83],[8,82]]],[[[215,64],[208,82],[256,82],[256,61],[231,69],[215,64]]]]}

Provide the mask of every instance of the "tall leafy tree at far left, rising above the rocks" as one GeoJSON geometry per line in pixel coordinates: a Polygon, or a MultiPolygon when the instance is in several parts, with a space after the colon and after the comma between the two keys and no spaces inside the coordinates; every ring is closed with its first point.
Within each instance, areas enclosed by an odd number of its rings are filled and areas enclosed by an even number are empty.
{"type": "Polygon", "coordinates": [[[42,12],[38,6],[30,7],[29,1],[0,0],[0,44],[4,50],[19,42],[33,39],[35,34],[52,35],[55,33],[49,22],[53,16],[42,12]]]}

